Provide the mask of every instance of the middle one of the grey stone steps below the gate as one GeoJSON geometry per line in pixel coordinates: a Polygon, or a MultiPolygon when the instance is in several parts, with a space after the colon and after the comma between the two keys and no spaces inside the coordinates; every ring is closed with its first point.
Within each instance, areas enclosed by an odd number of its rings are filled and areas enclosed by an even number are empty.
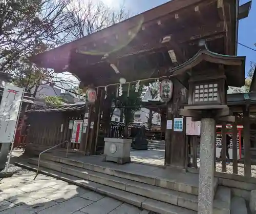
{"type": "MultiPolygon", "coordinates": [[[[36,165],[37,159],[29,159],[29,163],[36,165]]],[[[172,205],[178,205],[183,208],[197,211],[198,197],[195,195],[186,194],[185,192],[165,189],[150,184],[106,175],[75,166],[71,167],[65,164],[53,163],[46,160],[41,160],[40,166],[56,170],[57,172],[65,173],[67,175],[73,175],[84,180],[89,180],[95,183],[103,184],[105,186],[124,190],[138,196],[155,199],[161,202],[166,202],[172,205]]]]}

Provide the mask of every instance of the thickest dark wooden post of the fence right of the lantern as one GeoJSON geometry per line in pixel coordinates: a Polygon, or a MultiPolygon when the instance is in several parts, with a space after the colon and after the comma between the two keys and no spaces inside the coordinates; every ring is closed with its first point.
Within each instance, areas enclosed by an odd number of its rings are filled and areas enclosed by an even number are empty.
{"type": "Polygon", "coordinates": [[[250,154],[250,111],[243,110],[244,119],[244,176],[251,177],[251,154],[250,154]]]}

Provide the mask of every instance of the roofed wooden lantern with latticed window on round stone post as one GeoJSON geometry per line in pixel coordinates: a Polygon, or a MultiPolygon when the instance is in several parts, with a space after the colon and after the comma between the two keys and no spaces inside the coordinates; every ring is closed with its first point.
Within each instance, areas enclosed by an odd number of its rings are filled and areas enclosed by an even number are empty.
{"type": "Polygon", "coordinates": [[[227,106],[227,90],[228,85],[244,85],[244,63],[245,57],[221,55],[206,48],[172,69],[173,76],[188,89],[188,103],[180,115],[201,120],[198,213],[212,213],[216,121],[234,122],[227,106]]]}

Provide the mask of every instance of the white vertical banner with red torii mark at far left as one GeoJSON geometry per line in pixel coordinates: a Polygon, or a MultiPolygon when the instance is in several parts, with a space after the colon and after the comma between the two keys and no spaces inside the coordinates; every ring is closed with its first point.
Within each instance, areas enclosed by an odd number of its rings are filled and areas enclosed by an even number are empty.
{"type": "Polygon", "coordinates": [[[0,104],[0,143],[13,142],[23,93],[23,88],[10,83],[5,85],[0,104]]]}

